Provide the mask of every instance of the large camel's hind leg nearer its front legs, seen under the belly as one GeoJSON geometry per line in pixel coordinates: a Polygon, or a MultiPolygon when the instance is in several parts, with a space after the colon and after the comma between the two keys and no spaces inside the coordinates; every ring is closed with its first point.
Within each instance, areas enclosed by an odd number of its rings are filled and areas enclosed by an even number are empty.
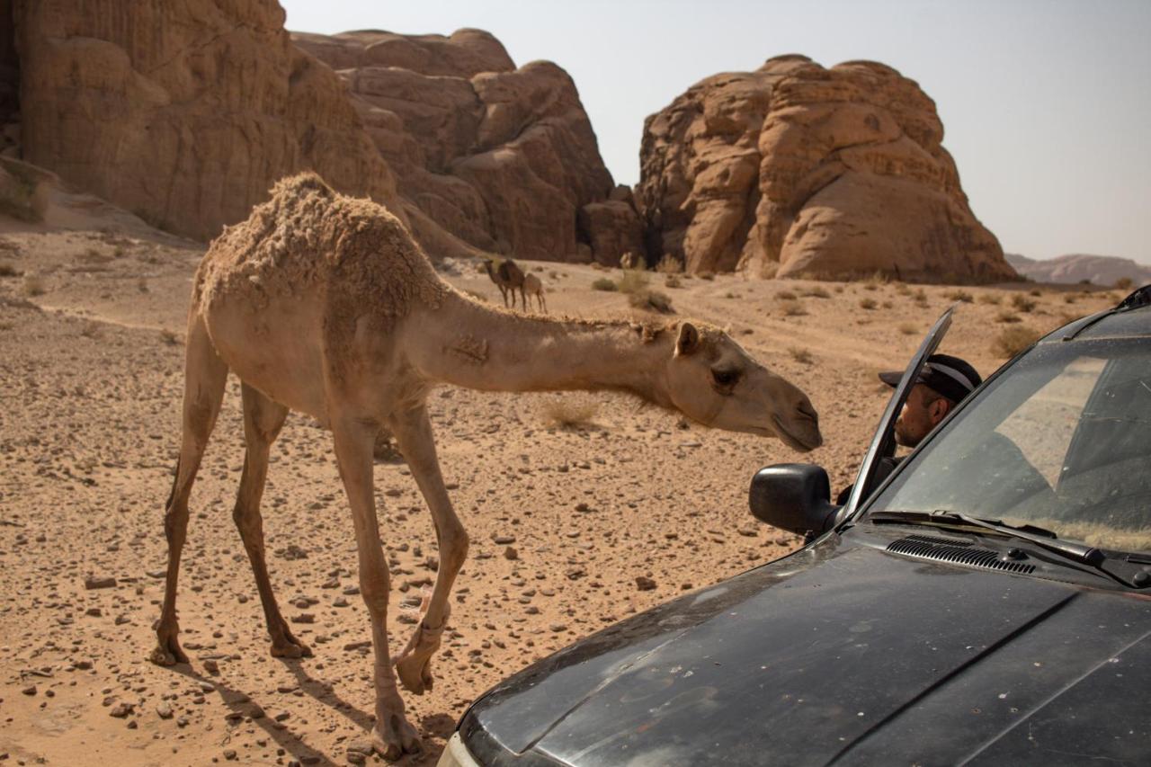
{"type": "Polygon", "coordinates": [[[273,402],[249,385],[244,384],[244,440],[247,453],[244,456],[244,473],[239,480],[239,493],[236,495],[236,508],[233,519],[239,529],[244,549],[252,563],[256,575],[256,588],[260,592],[260,603],[264,605],[264,617],[268,623],[268,635],[272,637],[272,655],[275,658],[311,656],[312,651],[292,636],[288,623],[280,614],[276,597],[272,592],[268,579],[268,565],[264,556],[264,519],[260,516],[260,499],[264,496],[264,485],[268,478],[268,450],[280,434],[288,417],[288,408],[273,402]]]}

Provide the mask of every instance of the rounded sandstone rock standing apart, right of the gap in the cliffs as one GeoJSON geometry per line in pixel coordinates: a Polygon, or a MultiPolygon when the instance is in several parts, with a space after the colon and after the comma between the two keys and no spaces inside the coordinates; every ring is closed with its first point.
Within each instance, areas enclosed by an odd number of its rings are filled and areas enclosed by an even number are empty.
{"type": "Polygon", "coordinates": [[[1015,279],[971,214],[935,104],[875,62],[715,75],[645,123],[649,257],[692,272],[1015,279]]]}

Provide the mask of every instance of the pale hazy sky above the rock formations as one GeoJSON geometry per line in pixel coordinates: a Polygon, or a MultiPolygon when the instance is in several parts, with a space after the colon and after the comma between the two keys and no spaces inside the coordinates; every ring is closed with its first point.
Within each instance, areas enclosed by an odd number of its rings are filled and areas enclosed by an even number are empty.
{"type": "Polygon", "coordinates": [[[874,59],[935,99],[971,210],[1004,250],[1151,264],[1151,0],[280,0],[288,28],[488,30],[576,81],[617,183],[643,119],[782,53],[874,59]]]}

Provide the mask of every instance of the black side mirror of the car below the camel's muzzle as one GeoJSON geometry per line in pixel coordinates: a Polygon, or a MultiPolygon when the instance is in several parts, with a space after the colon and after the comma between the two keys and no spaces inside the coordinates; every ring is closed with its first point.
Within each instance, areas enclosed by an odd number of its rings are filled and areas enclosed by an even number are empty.
{"type": "Polygon", "coordinates": [[[831,483],[823,466],[780,463],[755,472],[748,493],[752,514],[769,525],[800,536],[818,536],[834,524],[831,483]]]}

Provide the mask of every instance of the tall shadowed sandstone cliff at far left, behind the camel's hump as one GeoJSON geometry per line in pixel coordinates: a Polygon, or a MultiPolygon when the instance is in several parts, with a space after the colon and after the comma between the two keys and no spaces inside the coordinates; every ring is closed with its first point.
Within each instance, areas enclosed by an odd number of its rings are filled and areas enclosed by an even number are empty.
{"type": "Polygon", "coordinates": [[[199,238],[303,168],[404,217],[340,78],[275,0],[15,0],[23,153],[199,238]]]}

